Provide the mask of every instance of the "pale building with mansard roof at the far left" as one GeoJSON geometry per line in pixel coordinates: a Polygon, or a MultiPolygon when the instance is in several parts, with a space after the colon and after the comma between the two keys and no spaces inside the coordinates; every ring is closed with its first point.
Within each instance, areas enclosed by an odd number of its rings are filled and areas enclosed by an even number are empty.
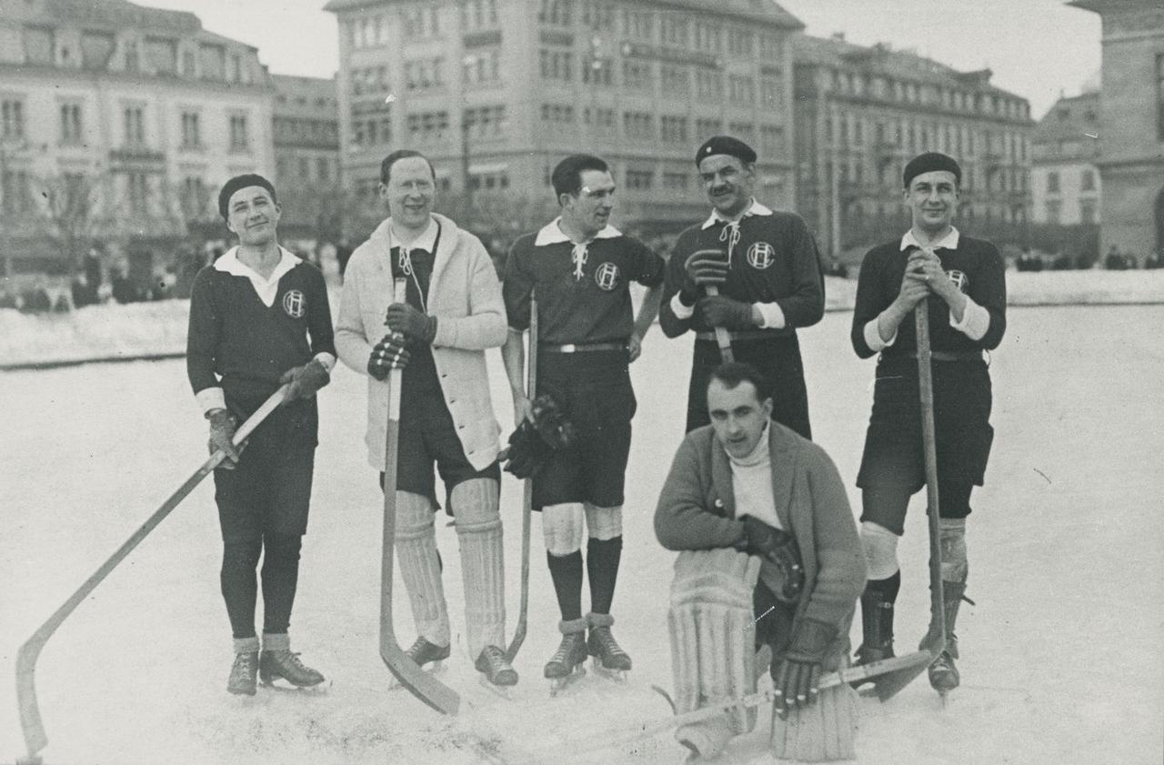
{"type": "Polygon", "coordinates": [[[64,270],[95,240],[149,279],[226,178],[274,169],[271,101],[256,50],[193,14],[0,0],[6,271],[64,270]]]}

